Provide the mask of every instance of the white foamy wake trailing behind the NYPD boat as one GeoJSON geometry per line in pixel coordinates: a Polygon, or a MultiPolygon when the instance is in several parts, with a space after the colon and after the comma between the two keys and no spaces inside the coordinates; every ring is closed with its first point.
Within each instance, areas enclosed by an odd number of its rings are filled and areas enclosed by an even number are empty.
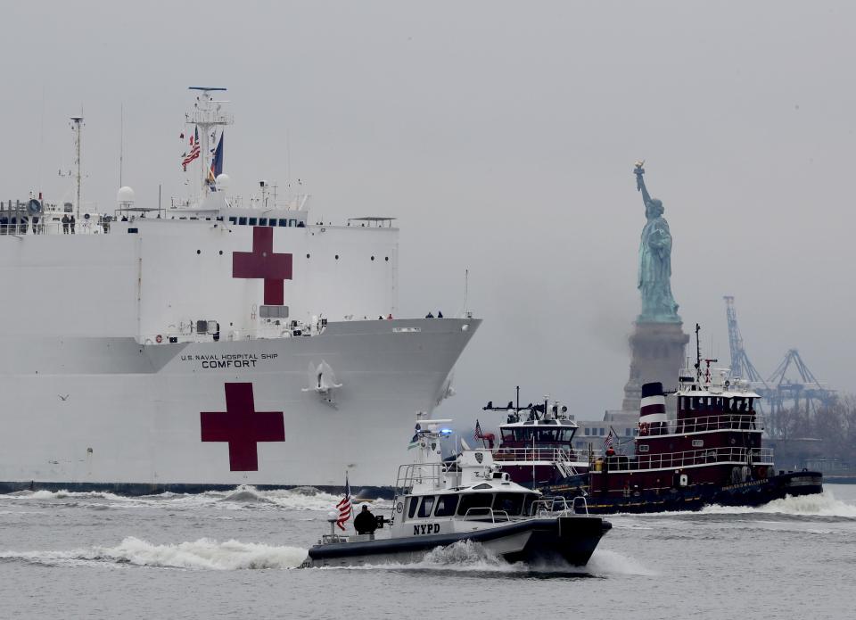
{"type": "Polygon", "coordinates": [[[116,547],[93,547],[68,551],[2,551],[0,560],[62,565],[116,563],[167,568],[238,570],[251,568],[294,568],[306,558],[300,547],[275,547],[254,542],[201,538],[177,544],[152,544],[133,536],[116,547]]]}

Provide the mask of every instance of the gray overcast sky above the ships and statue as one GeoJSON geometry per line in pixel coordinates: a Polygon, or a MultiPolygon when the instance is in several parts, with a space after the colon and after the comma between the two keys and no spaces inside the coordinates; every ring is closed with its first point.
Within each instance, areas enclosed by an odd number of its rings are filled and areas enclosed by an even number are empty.
{"type": "MultiPolygon", "coordinates": [[[[852,391],[856,4],[851,2],[28,2],[4,5],[4,199],[183,191],[190,85],[229,88],[226,171],[292,178],[313,211],[399,218],[401,315],[485,318],[461,421],[543,393],[617,408],[639,309],[646,158],[674,236],[685,328],[728,359],[723,294],[769,375],[796,347],[852,391]],[[286,135],[288,136],[286,148],[286,135]]],[[[484,416],[482,416],[484,418],[484,416]]]]}

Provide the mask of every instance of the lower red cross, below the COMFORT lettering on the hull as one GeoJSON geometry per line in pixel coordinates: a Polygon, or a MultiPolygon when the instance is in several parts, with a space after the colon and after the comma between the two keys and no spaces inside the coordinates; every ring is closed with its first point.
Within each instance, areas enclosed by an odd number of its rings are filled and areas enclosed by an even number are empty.
{"type": "Polygon", "coordinates": [[[284,442],[282,411],[256,411],[252,384],[226,384],[226,411],[202,411],[203,442],[229,443],[230,471],[259,471],[258,442],[284,442]]]}

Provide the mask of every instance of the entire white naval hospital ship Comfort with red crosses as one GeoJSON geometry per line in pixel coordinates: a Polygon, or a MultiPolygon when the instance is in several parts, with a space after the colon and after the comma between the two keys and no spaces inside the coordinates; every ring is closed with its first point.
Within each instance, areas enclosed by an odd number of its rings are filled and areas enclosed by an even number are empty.
{"type": "Polygon", "coordinates": [[[227,201],[216,90],[186,116],[199,201],[0,209],[0,491],[381,485],[448,393],[480,321],[393,318],[391,219],[227,201]]]}

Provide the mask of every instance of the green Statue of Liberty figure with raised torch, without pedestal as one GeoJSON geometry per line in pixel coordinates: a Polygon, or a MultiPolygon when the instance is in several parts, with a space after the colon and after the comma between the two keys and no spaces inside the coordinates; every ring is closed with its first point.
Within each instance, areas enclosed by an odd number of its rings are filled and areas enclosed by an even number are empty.
{"type": "Polygon", "coordinates": [[[663,202],[652,198],[645,186],[645,161],[636,164],[636,188],[642,192],[645,217],[639,243],[638,289],[642,293],[642,314],[638,323],[680,323],[678,304],[671,295],[671,233],[663,218],[663,202]]]}

